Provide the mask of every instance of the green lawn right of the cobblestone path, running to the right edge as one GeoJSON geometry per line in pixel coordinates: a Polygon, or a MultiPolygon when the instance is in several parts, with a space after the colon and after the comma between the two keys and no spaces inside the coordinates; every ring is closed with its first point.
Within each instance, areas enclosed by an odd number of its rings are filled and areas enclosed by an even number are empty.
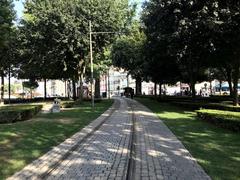
{"type": "Polygon", "coordinates": [[[172,130],[212,179],[240,179],[240,133],[198,120],[196,113],[138,98],[172,130]]]}

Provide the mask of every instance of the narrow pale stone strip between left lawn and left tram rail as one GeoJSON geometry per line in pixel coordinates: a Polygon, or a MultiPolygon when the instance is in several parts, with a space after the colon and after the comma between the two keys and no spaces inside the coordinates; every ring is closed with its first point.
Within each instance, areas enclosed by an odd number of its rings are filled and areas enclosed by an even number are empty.
{"type": "Polygon", "coordinates": [[[96,120],[92,121],[78,133],[66,139],[63,143],[54,147],[40,158],[34,160],[21,171],[7,178],[7,180],[42,179],[54,167],[56,167],[59,162],[68,156],[68,154],[74,150],[79,143],[84,141],[89,135],[96,131],[102,125],[102,123],[104,123],[104,121],[114,112],[116,104],[117,103],[115,100],[113,105],[96,120]]]}

